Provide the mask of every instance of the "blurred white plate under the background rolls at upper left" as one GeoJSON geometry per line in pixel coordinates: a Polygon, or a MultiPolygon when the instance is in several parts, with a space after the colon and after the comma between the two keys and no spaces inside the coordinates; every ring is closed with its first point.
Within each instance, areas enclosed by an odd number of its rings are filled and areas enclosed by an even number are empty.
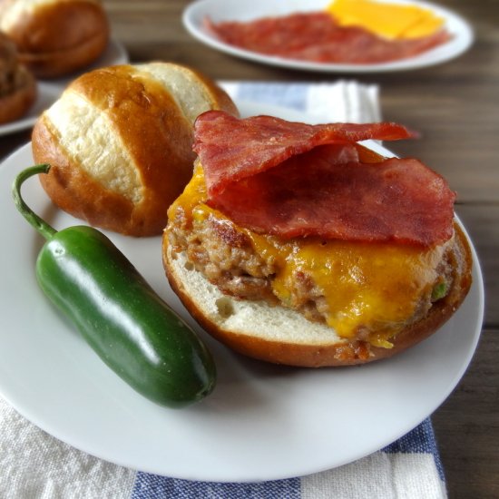
{"type": "MultiPolygon", "coordinates": [[[[116,42],[115,40],[111,40],[99,59],[97,59],[87,68],[84,68],[84,72],[92,71],[93,69],[96,69],[98,67],[127,63],[128,55],[126,54],[126,51],[122,44],[116,42]]],[[[38,116],[43,113],[45,109],[50,107],[55,102],[55,100],[58,99],[59,95],[63,93],[66,85],[81,73],[82,71],[64,78],[38,81],[38,95],[33,106],[19,120],[0,125],[0,136],[31,128],[34,125],[34,122],[36,122],[36,120],[38,119],[38,116]]]]}

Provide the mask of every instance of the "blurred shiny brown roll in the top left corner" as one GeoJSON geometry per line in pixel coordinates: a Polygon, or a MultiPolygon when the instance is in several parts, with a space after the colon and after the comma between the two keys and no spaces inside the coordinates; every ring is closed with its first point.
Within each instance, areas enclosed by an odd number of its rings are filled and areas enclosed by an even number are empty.
{"type": "Polygon", "coordinates": [[[35,76],[73,73],[103,54],[109,23],[99,0],[2,0],[0,30],[35,76]]]}

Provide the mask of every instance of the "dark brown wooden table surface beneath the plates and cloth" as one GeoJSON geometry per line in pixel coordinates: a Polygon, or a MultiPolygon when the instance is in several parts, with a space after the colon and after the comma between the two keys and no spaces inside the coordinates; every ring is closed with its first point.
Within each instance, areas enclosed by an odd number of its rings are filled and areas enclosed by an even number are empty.
{"type": "MultiPolygon", "coordinates": [[[[237,1],[237,0],[234,0],[237,1]]],[[[432,416],[451,498],[499,497],[499,1],[441,0],[465,16],[475,44],[454,61],[402,73],[303,73],[220,54],[181,25],[182,0],[104,0],[113,38],[132,62],[188,64],[215,79],[377,83],[385,120],[422,133],[397,142],[400,155],[421,158],[457,191],[484,273],[483,334],[465,377],[432,416]]],[[[29,140],[30,131],[0,138],[0,157],[29,140]]]]}

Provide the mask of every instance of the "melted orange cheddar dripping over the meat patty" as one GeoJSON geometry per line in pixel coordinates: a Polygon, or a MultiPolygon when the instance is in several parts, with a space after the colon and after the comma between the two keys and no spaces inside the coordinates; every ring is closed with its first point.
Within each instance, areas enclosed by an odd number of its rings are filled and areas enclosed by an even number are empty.
{"type": "MultiPolygon", "coordinates": [[[[185,191],[169,210],[172,220],[180,209],[189,224],[203,223],[210,215],[227,220],[204,203],[206,187],[198,165],[185,191]]],[[[319,238],[282,240],[234,226],[251,241],[253,250],[276,269],[273,293],[293,308],[298,274],[313,280],[324,297],[328,326],[342,338],[362,338],[377,347],[391,347],[390,338],[405,327],[431,295],[438,279],[436,268],[445,245],[416,249],[407,245],[358,243],[319,238]]]]}

